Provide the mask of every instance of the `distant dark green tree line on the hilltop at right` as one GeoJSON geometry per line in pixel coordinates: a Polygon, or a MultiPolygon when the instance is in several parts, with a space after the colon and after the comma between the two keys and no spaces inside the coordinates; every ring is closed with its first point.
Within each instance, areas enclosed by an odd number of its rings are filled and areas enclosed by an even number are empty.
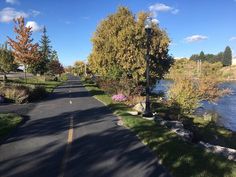
{"type": "Polygon", "coordinates": [[[201,60],[202,62],[207,61],[209,63],[221,62],[223,66],[230,66],[232,65],[232,50],[229,46],[227,46],[224,52],[220,52],[217,55],[205,54],[203,51],[201,51],[200,54],[192,55],[190,60],[201,60]]]}

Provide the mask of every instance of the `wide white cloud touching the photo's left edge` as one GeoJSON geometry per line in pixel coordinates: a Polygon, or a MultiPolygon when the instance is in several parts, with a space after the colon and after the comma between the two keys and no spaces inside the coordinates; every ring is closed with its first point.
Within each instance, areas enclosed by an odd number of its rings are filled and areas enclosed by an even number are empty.
{"type": "Polygon", "coordinates": [[[29,14],[23,12],[23,11],[16,11],[14,8],[6,7],[2,10],[0,10],[0,22],[10,22],[15,18],[19,17],[28,17],[29,14]]]}

